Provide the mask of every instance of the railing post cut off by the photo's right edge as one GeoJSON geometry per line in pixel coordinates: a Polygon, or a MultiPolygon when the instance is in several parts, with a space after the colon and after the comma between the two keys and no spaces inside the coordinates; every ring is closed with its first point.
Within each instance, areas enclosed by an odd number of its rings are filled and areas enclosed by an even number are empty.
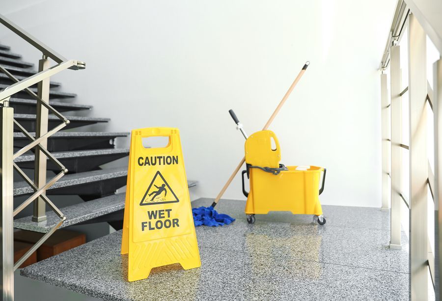
{"type": "Polygon", "coordinates": [[[434,245],[435,245],[435,294],[440,300],[442,287],[442,59],[433,65],[433,112],[434,112],[434,245]]]}

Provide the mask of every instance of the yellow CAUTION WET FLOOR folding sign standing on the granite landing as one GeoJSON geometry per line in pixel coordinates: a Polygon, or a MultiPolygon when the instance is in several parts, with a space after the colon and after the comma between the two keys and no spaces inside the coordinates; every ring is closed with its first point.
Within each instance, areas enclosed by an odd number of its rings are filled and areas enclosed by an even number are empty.
{"type": "Polygon", "coordinates": [[[178,129],[132,131],[121,254],[128,254],[129,281],[168,264],[201,266],[178,129]],[[144,137],[169,143],[145,148],[144,137]]]}

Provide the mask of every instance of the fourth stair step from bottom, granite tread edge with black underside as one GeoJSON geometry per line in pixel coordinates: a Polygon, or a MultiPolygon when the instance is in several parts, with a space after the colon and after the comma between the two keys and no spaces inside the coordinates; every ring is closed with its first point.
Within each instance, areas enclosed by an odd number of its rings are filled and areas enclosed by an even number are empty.
{"type": "MultiPolygon", "coordinates": [[[[30,133],[35,137],[35,133],[30,133]]],[[[50,152],[113,148],[117,137],[128,137],[130,133],[106,132],[57,132],[48,138],[50,152]]],[[[14,133],[14,147],[21,148],[29,143],[23,133],[14,133]]]]}

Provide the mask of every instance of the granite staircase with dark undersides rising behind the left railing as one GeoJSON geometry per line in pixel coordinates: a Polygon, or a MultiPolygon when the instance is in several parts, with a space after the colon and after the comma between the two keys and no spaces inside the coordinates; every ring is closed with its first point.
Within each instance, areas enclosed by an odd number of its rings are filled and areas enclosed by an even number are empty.
{"type": "MultiPolygon", "coordinates": [[[[10,47],[0,44],[0,65],[23,80],[37,73],[34,65],[22,60],[22,56],[10,51],[10,47]]],[[[14,82],[0,72],[0,90],[14,82]]],[[[81,112],[92,109],[89,105],[72,103],[75,93],[60,91],[61,83],[50,82],[49,104],[70,121],[70,123],[48,138],[47,149],[69,171],[60,180],[50,186],[46,195],[78,195],[84,202],[60,208],[66,219],[60,228],[75,224],[92,224],[109,222],[116,230],[122,228],[125,193],[116,191],[126,185],[127,167],[101,168],[103,164],[117,159],[127,158],[129,148],[116,148],[115,140],[127,137],[129,133],[75,132],[78,127],[97,123],[108,123],[109,118],[69,116],[69,112],[81,112]],[[70,102],[66,102],[69,100],[70,102]]],[[[36,85],[29,88],[37,93],[36,85]]],[[[14,108],[14,119],[17,120],[31,136],[36,131],[36,104],[25,90],[14,94],[9,106],[14,108]]],[[[60,120],[49,115],[48,130],[55,128],[60,120]]],[[[29,143],[29,139],[14,127],[14,151],[29,143]]],[[[33,174],[35,156],[32,151],[16,158],[14,163],[33,174]]],[[[47,170],[59,172],[59,166],[47,161],[47,170]]],[[[48,176],[49,178],[49,176],[48,176]]],[[[189,181],[188,186],[196,185],[189,181]]],[[[25,181],[14,182],[14,197],[31,195],[34,190],[25,181]]],[[[48,233],[60,222],[60,218],[51,210],[46,213],[47,219],[41,222],[32,221],[32,217],[14,219],[14,228],[48,233]]]]}

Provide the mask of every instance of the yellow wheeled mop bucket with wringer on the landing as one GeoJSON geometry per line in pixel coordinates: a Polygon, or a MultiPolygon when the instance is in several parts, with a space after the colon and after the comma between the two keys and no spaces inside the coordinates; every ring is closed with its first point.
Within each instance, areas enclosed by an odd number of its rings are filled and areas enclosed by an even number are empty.
{"type": "Polygon", "coordinates": [[[279,164],[281,151],[272,131],[259,131],[248,137],[245,152],[247,170],[242,172],[242,181],[243,193],[247,196],[245,212],[249,223],[255,221],[255,214],[290,211],[293,214],[314,215],[319,224],[325,224],[319,202],[319,194],[324,190],[325,168],[286,167],[279,164]],[[319,188],[321,173],[324,175],[319,188]],[[245,174],[250,179],[250,192],[245,190],[245,174]]]}

